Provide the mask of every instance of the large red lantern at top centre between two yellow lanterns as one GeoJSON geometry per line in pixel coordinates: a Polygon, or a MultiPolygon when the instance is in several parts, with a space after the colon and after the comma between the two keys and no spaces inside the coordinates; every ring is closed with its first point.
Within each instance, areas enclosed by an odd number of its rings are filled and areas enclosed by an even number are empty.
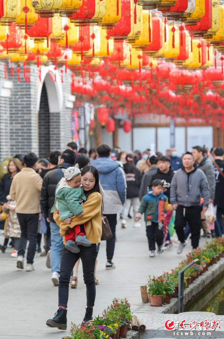
{"type": "Polygon", "coordinates": [[[121,19],[117,25],[107,29],[107,34],[115,40],[124,40],[131,31],[131,6],[130,0],[121,0],[121,19]]]}

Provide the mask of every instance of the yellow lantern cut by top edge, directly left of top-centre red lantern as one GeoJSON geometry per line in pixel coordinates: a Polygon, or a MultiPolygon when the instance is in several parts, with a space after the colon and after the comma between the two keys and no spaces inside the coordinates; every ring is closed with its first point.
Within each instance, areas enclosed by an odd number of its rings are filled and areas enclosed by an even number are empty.
{"type": "Polygon", "coordinates": [[[106,14],[102,18],[102,21],[99,22],[99,26],[102,26],[104,29],[110,29],[113,28],[120,19],[121,0],[106,0],[106,14]],[[118,9],[117,2],[119,3],[118,9]]]}

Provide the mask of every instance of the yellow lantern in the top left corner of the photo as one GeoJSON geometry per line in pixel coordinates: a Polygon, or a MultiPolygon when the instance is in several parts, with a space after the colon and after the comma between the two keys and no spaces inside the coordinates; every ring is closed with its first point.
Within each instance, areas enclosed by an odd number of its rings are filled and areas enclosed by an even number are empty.
{"type": "Polygon", "coordinates": [[[20,1],[17,0],[1,0],[3,2],[4,15],[0,18],[2,26],[9,26],[20,15],[20,1]]]}

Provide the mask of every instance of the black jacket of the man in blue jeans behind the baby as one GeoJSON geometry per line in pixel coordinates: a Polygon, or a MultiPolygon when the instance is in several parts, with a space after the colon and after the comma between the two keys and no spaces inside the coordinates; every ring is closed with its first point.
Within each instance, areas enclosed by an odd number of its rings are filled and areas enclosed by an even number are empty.
{"type": "Polygon", "coordinates": [[[43,179],[43,184],[40,193],[40,205],[41,210],[45,218],[49,218],[51,222],[55,223],[53,218],[53,213],[50,213],[51,208],[55,203],[55,190],[58,182],[61,178],[64,177],[64,173],[62,172],[62,168],[68,168],[70,166],[74,166],[73,164],[69,164],[63,162],[59,164],[56,169],[49,171],[43,179]]]}

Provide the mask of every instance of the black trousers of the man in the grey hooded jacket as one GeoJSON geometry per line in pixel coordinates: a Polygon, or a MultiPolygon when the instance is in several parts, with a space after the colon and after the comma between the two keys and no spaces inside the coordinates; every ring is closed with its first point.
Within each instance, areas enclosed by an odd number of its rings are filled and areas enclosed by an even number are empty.
{"type": "Polygon", "coordinates": [[[191,233],[191,246],[193,249],[199,245],[201,231],[201,206],[184,207],[179,205],[176,210],[175,230],[178,240],[184,243],[184,227],[188,222],[191,233]]]}

